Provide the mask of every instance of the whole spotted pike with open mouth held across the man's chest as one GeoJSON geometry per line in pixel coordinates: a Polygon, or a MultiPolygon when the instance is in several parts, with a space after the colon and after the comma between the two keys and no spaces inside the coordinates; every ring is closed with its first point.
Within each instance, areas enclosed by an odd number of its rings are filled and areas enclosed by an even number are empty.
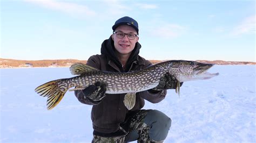
{"type": "Polygon", "coordinates": [[[169,60],[142,70],[118,73],[98,70],[84,63],[75,63],[71,65],[70,71],[71,74],[78,76],[44,83],[35,91],[43,97],[48,97],[46,106],[51,110],[62,100],[66,91],[82,90],[100,81],[106,83],[106,94],[126,94],[123,102],[126,108],[131,110],[136,102],[136,92],[157,87],[160,78],[166,73],[176,78],[176,93],[180,94],[181,82],[206,80],[219,75],[207,72],[212,66],[213,64],[196,61],[169,60]],[[70,89],[72,87],[75,88],[70,89]]]}

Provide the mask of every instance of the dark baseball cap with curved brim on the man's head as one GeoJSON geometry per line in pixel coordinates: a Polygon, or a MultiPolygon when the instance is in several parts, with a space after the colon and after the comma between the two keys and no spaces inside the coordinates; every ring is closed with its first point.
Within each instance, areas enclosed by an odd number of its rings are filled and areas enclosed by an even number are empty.
{"type": "Polygon", "coordinates": [[[136,20],[134,20],[133,18],[131,17],[122,17],[120,19],[118,19],[116,21],[116,23],[114,23],[114,25],[112,26],[112,30],[116,30],[116,28],[120,25],[129,25],[129,26],[132,26],[136,31],[137,33],[139,34],[139,25],[138,23],[136,22],[136,20]]]}

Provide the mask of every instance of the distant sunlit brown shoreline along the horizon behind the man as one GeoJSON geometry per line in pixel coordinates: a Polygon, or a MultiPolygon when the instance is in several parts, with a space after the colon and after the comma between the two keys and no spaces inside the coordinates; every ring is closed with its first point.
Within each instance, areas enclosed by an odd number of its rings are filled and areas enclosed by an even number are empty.
{"type": "MultiPolygon", "coordinates": [[[[152,63],[162,62],[162,60],[150,60],[152,63]]],[[[166,61],[166,60],[163,60],[166,61]]],[[[196,60],[203,63],[212,63],[215,65],[256,65],[256,62],[245,61],[222,61],[222,60],[196,60]]],[[[70,67],[74,63],[86,63],[87,60],[15,60],[0,58],[0,68],[55,68],[55,67],[70,67]]]]}

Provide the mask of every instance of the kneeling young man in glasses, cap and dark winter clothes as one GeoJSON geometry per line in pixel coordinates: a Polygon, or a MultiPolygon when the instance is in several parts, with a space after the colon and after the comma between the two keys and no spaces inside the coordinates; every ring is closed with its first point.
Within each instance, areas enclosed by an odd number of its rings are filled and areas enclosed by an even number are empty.
{"type": "MultiPolygon", "coordinates": [[[[87,65],[112,72],[141,70],[152,65],[139,56],[138,23],[122,17],[112,27],[113,34],[103,41],[101,54],[93,55],[87,65]]],[[[125,94],[107,95],[106,84],[96,82],[84,90],[75,91],[78,100],[93,105],[92,142],[163,142],[171,126],[171,119],[158,110],[141,110],[144,99],[158,103],[165,98],[166,89],[175,89],[176,80],[171,75],[161,77],[159,85],[136,94],[136,103],[130,111],[123,100],[125,94]]]]}

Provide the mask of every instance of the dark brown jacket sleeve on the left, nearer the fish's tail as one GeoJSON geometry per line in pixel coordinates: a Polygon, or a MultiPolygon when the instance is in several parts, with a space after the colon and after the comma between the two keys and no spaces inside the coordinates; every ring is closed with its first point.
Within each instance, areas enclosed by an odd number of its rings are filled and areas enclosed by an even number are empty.
{"type": "MultiPolygon", "coordinates": [[[[97,68],[99,69],[99,67],[97,65],[97,63],[99,63],[99,61],[97,61],[97,56],[91,56],[88,60],[86,65],[89,65],[93,68],[97,68]]],[[[100,102],[96,102],[96,101],[92,101],[89,98],[86,98],[84,96],[84,93],[82,90],[75,90],[75,96],[77,97],[78,101],[83,103],[83,104],[87,104],[87,105],[96,105],[99,104],[100,102]]]]}

